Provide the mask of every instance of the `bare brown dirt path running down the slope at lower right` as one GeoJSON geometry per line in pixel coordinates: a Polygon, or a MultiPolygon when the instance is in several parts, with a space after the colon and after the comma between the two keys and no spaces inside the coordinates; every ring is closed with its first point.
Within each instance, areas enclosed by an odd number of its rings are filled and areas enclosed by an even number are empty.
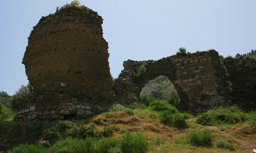
{"type": "MultiPolygon", "coordinates": [[[[196,118],[192,118],[192,119],[189,119],[188,120],[189,122],[193,122],[195,124],[196,123],[196,118]]],[[[233,135],[233,132],[226,132],[226,131],[221,131],[220,130],[220,127],[217,127],[217,126],[203,126],[203,125],[200,125],[200,124],[197,124],[198,126],[201,126],[203,128],[208,128],[212,131],[216,131],[218,132],[219,134],[221,135],[224,135],[226,137],[230,137],[232,138],[235,142],[238,142],[239,144],[241,144],[241,148],[240,150],[252,150],[252,149],[255,149],[256,148],[256,144],[252,143],[252,142],[248,142],[246,140],[242,140],[242,139],[238,139],[236,138],[234,135],[233,135]]]]}

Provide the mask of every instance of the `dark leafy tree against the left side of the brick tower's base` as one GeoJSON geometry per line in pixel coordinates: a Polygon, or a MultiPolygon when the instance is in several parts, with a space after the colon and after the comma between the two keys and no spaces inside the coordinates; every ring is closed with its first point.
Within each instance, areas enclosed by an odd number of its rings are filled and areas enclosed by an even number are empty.
{"type": "Polygon", "coordinates": [[[22,85],[18,91],[12,96],[11,107],[14,111],[24,109],[26,106],[33,104],[35,97],[33,87],[28,83],[27,86],[22,85]]]}

